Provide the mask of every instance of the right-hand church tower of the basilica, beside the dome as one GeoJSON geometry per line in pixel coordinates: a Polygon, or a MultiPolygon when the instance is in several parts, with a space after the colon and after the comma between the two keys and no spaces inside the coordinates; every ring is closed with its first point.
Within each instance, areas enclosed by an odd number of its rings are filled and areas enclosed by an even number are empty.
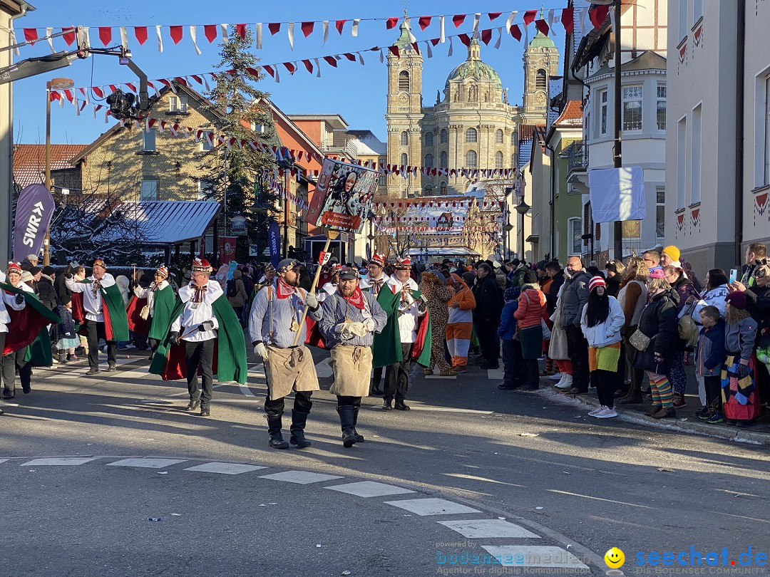
{"type": "Polygon", "coordinates": [[[544,125],[551,76],[559,73],[559,51],[551,38],[537,32],[524,51],[524,102],[522,122],[544,125]]]}

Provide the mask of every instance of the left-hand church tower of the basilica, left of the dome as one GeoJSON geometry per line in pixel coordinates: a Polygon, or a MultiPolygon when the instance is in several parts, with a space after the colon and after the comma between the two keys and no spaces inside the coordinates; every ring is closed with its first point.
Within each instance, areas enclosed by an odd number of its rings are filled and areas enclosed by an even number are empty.
{"type": "MultiPolygon", "coordinates": [[[[400,31],[395,43],[400,58],[390,52],[387,55],[387,158],[391,164],[420,166],[423,164],[420,160],[423,57],[411,45],[413,40],[406,14],[400,31]]],[[[387,195],[390,197],[420,195],[421,186],[419,173],[409,178],[387,177],[387,195]]]]}

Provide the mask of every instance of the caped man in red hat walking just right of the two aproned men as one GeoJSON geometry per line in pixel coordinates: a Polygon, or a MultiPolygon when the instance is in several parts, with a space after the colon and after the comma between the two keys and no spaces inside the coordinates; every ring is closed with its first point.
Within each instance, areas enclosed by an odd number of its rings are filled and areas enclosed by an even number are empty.
{"type": "Polygon", "coordinates": [[[409,389],[411,362],[430,365],[430,315],[427,303],[410,277],[412,262],[407,256],[396,258],[395,272],[380,291],[377,302],[387,313],[387,325],[373,343],[373,365],[385,369],[383,411],[408,411],[404,402],[409,389]]]}

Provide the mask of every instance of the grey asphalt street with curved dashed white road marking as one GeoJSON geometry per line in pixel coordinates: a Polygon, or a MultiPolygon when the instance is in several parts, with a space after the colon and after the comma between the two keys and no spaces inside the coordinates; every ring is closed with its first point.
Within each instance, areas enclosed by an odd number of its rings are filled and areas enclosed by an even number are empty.
{"type": "Polygon", "coordinates": [[[248,387],[217,387],[209,419],[146,366],[36,370],[32,394],[3,405],[4,575],[604,575],[614,545],[638,575],[668,568],[638,568],[637,552],[770,551],[766,446],[597,421],[472,368],[415,370],[410,412],[364,399],[352,449],[324,390],[313,447],[276,451],[259,365],[248,387]]]}

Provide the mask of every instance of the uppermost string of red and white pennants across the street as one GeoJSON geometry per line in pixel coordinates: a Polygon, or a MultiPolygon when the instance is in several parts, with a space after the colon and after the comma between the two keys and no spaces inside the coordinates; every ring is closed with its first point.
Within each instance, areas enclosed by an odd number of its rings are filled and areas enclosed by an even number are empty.
{"type": "MultiPolygon", "coordinates": [[[[592,25],[593,28],[598,28],[601,23],[604,22],[604,18],[609,13],[609,6],[588,6],[577,8],[577,16],[581,25],[582,32],[586,32],[586,26],[592,25]],[[586,17],[588,16],[588,23],[586,17]]],[[[537,29],[545,35],[548,35],[554,28],[555,24],[561,24],[567,33],[571,33],[574,28],[574,15],[575,8],[570,6],[567,8],[549,8],[546,10],[522,10],[510,12],[505,18],[505,28],[518,27],[517,18],[521,15],[521,24],[526,29],[527,25],[534,22],[537,29]],[[538,18],[541,15],[541,18],[538,18]]],[[[480,32],[480,24],[482,20],[488,22],[503,22],[504,12],[476,12],[474,14],[454,14],[454,15],[425,15],[419,17],[403,16],[388,17],[388,18],[343,18],[338,20],[307,20],[301,22],[256,22],[256,23],[239,23],[239,24],[204,24],[204,25],[142,25],[142,26],[83,26],[82,30],[85,34],[87,42],[92,45],[92,38],[95,41],[98,38],[99,43],[102,46],[107,47],[112,45],[112,42],[120,42],[124,48],[129,48],[129,38],[132,38],[131,42],[136,42],[140,46],[146,44],[151,36],[154,36],[158,52],[163,52],[163,41],[166,38],[174,44],[179,45],[185,38],[185,34],[188,35],[190,45],[195,50],[197,55],[200,55],[202,51],[199,48],[199,38],[201,42],[205,39],[209,44],[213,44],[217,40],[221,42],[228,42],[228,29],[230,26],[236,28],[236,34],[241,38],[246,38],[247,30],[253,32],[253,43],[256,49],[262,49],[263,40],[269,35],[269,38],[276,36],[280,32],[286,32],[286,38],[289,41],[289,46],[293,50],[294,42],[297,37],[309,38],[311,35],[323,35],[323,45],[329,39],[330,28],[336,30],[338,35],[343,35],[347,30],[350,31],[350,36],[353,38],[358,37],[359,28],[361,22],[384,22],[386,30],[392,30],[396,28],[399,22],[404,22],[409,29],[409,35],[411,42],[417,42],[417,38],[414,38],[411,32],[411,21],[413,18],[417,18],[417,25],[421,30],[425,30],[432,22],[437,21],[440,29],[440,42],[444,42],[446,38],[447,25],[454,25],[454,28],[460,28],[466,20],[472,18],[474,35],[480,32]],[[350,22],[350,25],[348,25],[350,22]],[[199,28],[203,28],[203,38],[199,37],[199,28]],[[299,29],[297,29],[299,28],[299,29]],[[117,31],[117,34],[114,33],[117,31]]],[[[54,38],[62,38],[68,47],[72,47],[75,44],[75,26],[65,26],[61,28],[55,27],[39,27],[39,28],[22,28],[24,35],[23,45],[35,45],[36,42],[48,42],[52,52],[56,49],[53,45],[54,38]]],[[[521,31],[519,31],[521,32],[521,31]]]]}

